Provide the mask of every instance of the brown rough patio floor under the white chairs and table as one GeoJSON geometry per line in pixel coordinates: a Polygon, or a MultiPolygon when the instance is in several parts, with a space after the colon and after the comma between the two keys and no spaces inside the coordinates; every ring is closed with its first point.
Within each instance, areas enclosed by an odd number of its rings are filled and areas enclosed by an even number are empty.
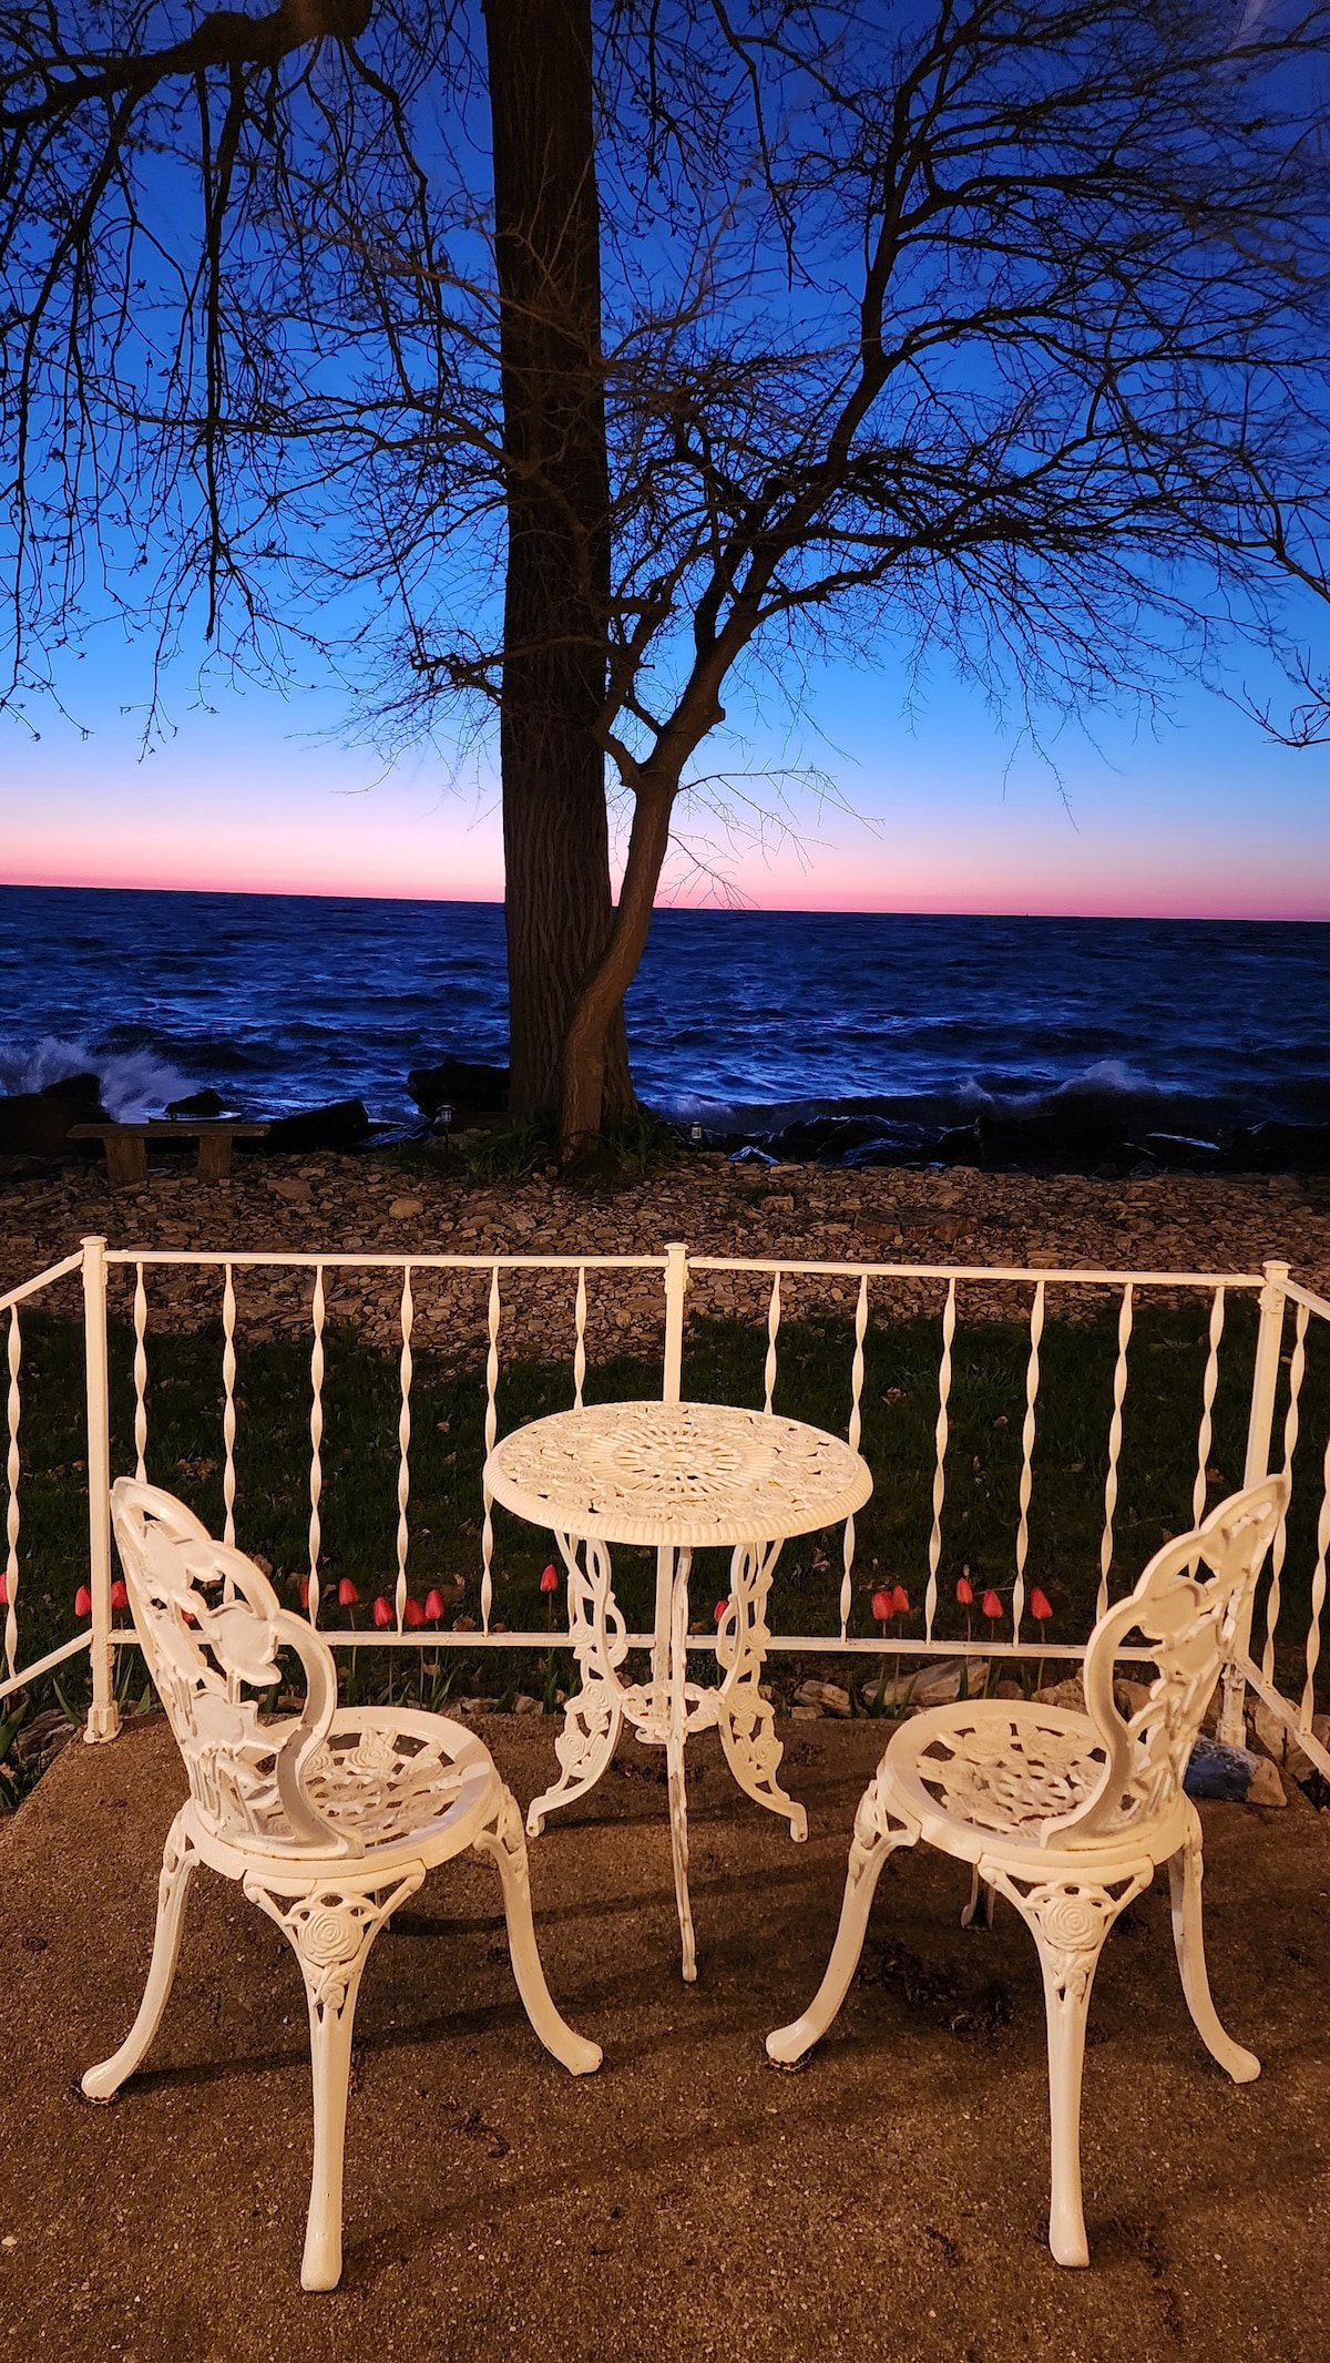
{"type": "MultiPolygon", "coordinates": [[[[487,1725],[527,1801],[553,1723],[487,1725]]],[[[1113,1935],[1084,2094],[1094,2264],[1044,2245],[1044,2016],[1011,1912],[898,1857],[865,1961],[801,2075],[768,2027],[813,1992],[879,1734],[791,1734],[810,1841],[690,1756],[699,1985],[678,1978],[664,1786],[621,1768],[532,1848],[574,2082],[520,2011],[491,1871],[444,1867],[383,1935],[357,2020],[345,2278],[298,2285],[309,2084],[298,1971],[201,1871],[175,1997],[109,2110],[80,2070],[146,1971],[182,1775],[161,1720],[71,1746],[7,1827],[0,2337],[9,2363],[1325,2363],[1330,1827],[1304,1801],[1205,1810],[1210,1961],[1236,2089],[1191,2030],[1167,1881],[1113,1935]]]]}

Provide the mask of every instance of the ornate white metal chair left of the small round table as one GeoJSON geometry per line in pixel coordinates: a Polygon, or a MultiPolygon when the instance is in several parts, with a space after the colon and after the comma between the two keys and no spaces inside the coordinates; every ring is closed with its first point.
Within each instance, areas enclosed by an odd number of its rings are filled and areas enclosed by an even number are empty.
{"type": "Polygon", "coordinates": [[[300,2280],[331,2290],[343,2268],[343,2146],[352,2016],[373,1938],[425,1871],[465,1848],[503,1883],[508,1952],[536,2035],[572,2075],[600,2046],[555,2011],[532,1926],[527,1841],[489,1749],[461,1723],[418,1708],[340,1708],[333,1654],[293,1616],[243,1552],[215,1543],[184,1503],[130,1477],[111,1517],[135,1626],[184,1756],[189,1801],[165,1841],[154,1957],[130,2035],[83,2077],[109,2101],[144,2058],[180,1954],[184,1895],[198,1862],[239,1879],[288,1938],[309,2001],[314,2176],[300,2280]],[[305,1671],[300,1716],[265,1723],[248,1690],[305,1671]]]}

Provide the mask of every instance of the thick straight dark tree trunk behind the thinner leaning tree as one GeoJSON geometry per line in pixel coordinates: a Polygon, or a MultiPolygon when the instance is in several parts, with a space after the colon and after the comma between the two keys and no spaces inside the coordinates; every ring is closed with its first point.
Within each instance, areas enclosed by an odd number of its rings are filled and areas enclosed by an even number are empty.
{"type": "MultiPolygon", "coordinates": [[[[508,588],[503,862],[515,1115],[555,1111],[565,1040],[614,924],[605,756],[609,468],[591,0],[484,0],[501,298],[508,588]]],[[[633,1106],[607,1016],[593,1130],[633,1106]]]]}

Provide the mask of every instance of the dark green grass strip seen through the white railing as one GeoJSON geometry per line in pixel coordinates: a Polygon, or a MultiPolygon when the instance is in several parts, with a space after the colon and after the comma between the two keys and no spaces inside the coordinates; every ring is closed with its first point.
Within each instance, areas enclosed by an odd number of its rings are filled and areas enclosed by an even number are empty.
{"type": "MultiPolygon", "coordinates": [[[[1165,1534],[1191,1524],[1195,1430],[1205,1371],[1205,1309],[1143,1307],[1132,1340],[1120,1498],[1115,1517],[1113,1593],[1136,1578],[1165,1534]]],[[[933,1427],[938,1418],[938,1321],[917,1319],[872,1328],[865,1342],[862,1449],[876,1477],[858,1519],[855,1607],[850,1630],[872,1635],[869,1595],[884,1578],[910,1590],[912,1616],[898,1628],[921,1633],[926,1552],[931,1531],[933,1427]]],[[[1233,1491],[1243,1475],[1247,1397],[1254,1347],[1254,1307],[1236,1302],[1221,1352],[1214,1437],[1207,1465],[1217,1475],[1207,1501],[1233,1491]]],[[[1295,1463],[1295,1510],[1283,1578],[1280,1633],[1285,1678],[1297,1680],[1306,1628],[1309,1578],[1316,1555],[1321,1456],[1330,1425],[1330,1340],[1309,1340],[1302,1392],[1302,1441],[1295,1463]]],[[[843,1434],[850,1387],[848,1319],[787,1323],[780,1337],[775,1408],[843,1434]]],[[[1080,1642],[1094,1621],[1108,1418],[1113,1404],[1113,1323],[1049,1323],[1042,1340],[1035,1489],[1030,1501],[1028,1586],[1054,1602],[1049,1642],[1080,1642]]],[[[702,1321],[690,1330],[683,1392],[702,1401],[763,1401],[765,1330],[737,1321],[702,1321]]],[[[1025,1413],[1028,1335],[1018,1323],[961,1326],[954,1340],[950,1394],[947,1498],[943,1512],[940,1638],[964,1638],[954,1578],[969,1567],[976,1595],[992,1586],[1011,1600],[1025,1413]]],[[[111,1467],[135,1465],[132,1337],[111,1330],[111,1467]]],[[[19,1486],[19,1664],[33,1661],[76,1630],[73,1593],[85,1581],[87,1491],[83,1432],[83,1330],[33,1316],[24,1326],[24,1418],[19,1486]]],[[[1283,1437],[1280,1371],[1276,1463],[1283,1437]]],[[[586,1375],[588,1401],[659,1394],[659,1363],[628,1356],[602,1361],[586,1375]]],[[[498,1387],[498,1430],[546,1411],[567,1408],[567,1366],[510,1363],[498,1387]]],[[[222,1526],[222,1337],[217,1328],[158,1335],[149,1363],[149,1477],[180,1493],[213,1531],[222,1526]]],[[[272,1562],[283,1597],[295,1602],[307,1569],[309,1529],[309,1356],[298,1342],[241,1342],[236,1378],[236,1538],[272,1562]]],[[[359,1342],[352,1330],[326,1333],[321,1578],[324,1621],[350,1614],[366,1626],[376,1593],[392,1593],[397,1531],[397,1361],[359,1342]],[[335,1607],[338,1578],[350,1576],[361,1604],[335,1607]]],[[[463,1574],[449,1590],[449,1616],[480,1616],[480,1470],[484,1460],[484,1382],[477,1371],[444,1368],[416,1356],[411,1389],[411,1590],[423,1597],[463,1574]],[[456,1607],[454,1607],[456,1602],[456,1607]]],[[[494,1512],[494,1616],[515,1630],[543,1628],[548,1600],[539,1576],[550,1538],[494,1512]]],[[[617,1590],[628,1626],[645,1630],[652,1614],[654,1557],[619,1550],[617,1590]]],[[[787,1633],[836,1633],[841,1534],[787,1543],[772,1586],[770,1626],[787,1633]]],[[[725,1557],[699,1552],[692,1578],[695,1616],[709,1616],[728,1588],[725,1557]]],[[[558,1595],[562,1602],[562,1593],[558,1595]]],[[[1009,1635],[1009,1626],[1004,1628],[1009,1635]]],[[[1264,1614],[1257,1612],[1257,1630],[1264,1614]]],[[[976,1616],[976,1638],[985,1626],[976,1616]]],[[[999,1633],[1002,1638],[1002,1633],[999,1633]]],[[[392,1680],[402,1694],[418,1680],[413,1654],[354,1652],[364,1697],[392,1680]]],[[[425,1652],[430,1656],[430,1652],[425,1652]]],[[[137,1666],[137,1661],[135,1661],[137,1666]]],[[[506,1652],[446,1649],[439,1685],[510,1694],[517,1685],[553,1690],[548,1661],[517,1664],[506,1652]]],[[[704,1675],[704,1664],[697,1668],[704,1675]]],[[[772,1671],[782,1671],[782,1661],[772,1671]]],[[[865,1668],[867,1671],[867,1668],[865,1668]]],[[[558,1680],[567,1687],[567,1654],[558,1680]]],[[[61,1671],[66,1697],[85,1694],[83,1661],[61,1671]]]]}

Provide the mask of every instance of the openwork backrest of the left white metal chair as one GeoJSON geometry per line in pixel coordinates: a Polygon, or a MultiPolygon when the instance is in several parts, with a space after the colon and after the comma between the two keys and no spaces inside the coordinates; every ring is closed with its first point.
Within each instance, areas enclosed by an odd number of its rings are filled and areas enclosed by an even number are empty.
{"type": "Polygon", "coordinates": [[[338,1706],[333,1652],[305,1616],[281,1607],[241,1550],[215,1543],[175,1493],[120,1477],[111,1524],[146,1668],[184,1756],[206,1829],[262,1855],[359,1855],[302,1772],[338,1706]],[[305,1708],[260,1723],[257,1699],[283,1680],[279,1652],[305,1671],[305,1708]]]}

